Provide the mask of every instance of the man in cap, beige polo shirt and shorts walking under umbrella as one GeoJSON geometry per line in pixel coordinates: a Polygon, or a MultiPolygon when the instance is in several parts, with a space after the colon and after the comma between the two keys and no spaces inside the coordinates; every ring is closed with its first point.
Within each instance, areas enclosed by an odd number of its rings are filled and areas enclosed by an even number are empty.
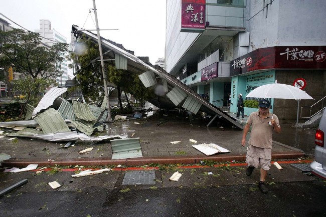
{"type": "Polygon", "coordinates": [[[252,126],[246,154],[246,163],[248,164],[246,174],[250,176],[254,168],[260,168],[258,187],[261,192],[267,193],[265,179],[272,158],[272,134],[273,131],[280,133],[281,127],[277,116],[269,112],[270,102],[267,99],[260,100],[258,107],[258,111],[252,112],[248,117],[241,145],[246,145],[246,135],[252,126]]]}

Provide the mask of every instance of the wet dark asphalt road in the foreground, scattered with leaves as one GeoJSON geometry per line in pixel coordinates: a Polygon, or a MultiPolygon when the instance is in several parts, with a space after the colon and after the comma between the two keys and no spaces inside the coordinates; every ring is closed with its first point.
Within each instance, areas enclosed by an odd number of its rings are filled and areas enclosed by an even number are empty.
{"type": "Polygon", "coordinates": [[[0,190],[29,179],[0,197],[0,216],[326,216],[326,182],[281,166],[268,172],[267,194],[257,188],[258,170],[249,177],[239,165],[156,169],[155,184],[145,185],[122,185],[132,170],[78,178],[61,169],[0,173],[0,190]],[[181,178],[169,181],[175,171],[181,178]],[[62,186],[52,189],[54,180],[62,186]]]}

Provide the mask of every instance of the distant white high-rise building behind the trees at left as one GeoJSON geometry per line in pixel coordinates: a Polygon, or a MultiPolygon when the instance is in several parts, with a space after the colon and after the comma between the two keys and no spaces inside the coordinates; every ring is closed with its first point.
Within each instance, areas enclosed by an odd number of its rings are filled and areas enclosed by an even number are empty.
{"type": "MultiPolygon", "coordinates": [[[[52,46],[56,42],[67,43],[67,38],[62,34],[58,33],[55,29],[51,27],[51,21],[49,20],[40,20],[40,29],[35,30],[36,33],[39,33],[42,37],[42,43],[52,46]]],[[[57,83],[59,85],[64,85],[66,80],[68,80],[68,61],[66,59],[67,54],[62,55],[62,61],[56,63],[60,73],[56,77],[57,83]]]]}

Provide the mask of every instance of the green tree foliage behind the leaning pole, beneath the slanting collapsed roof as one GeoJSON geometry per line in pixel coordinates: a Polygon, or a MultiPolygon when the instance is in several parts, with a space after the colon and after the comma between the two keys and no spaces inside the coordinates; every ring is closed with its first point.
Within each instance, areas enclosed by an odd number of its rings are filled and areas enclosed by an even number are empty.
{"type": "MultiPolygon", "coordinates": [[[[71,58],[78,63],[80,67],[77,79],[80,81],[80,88],[85,98],[97,100],[99,95],[104,96],[101,63],[100,61],[96,61],[100,59],[98,44],[82,38],[79,41],[79,45],[82,45],[85,49],[78,54],[71,54],[71,58]]],[[[152,90],[144,87],[137,74],[127,70],[116,69],[113,66],[113,62],[105,63],[107,80],[114,83],[119,89],[134,95],[134,97],[141,102],[154,96],[152,90]]],[[[122,105],[120,106],[122,107],[122,105]]]]}

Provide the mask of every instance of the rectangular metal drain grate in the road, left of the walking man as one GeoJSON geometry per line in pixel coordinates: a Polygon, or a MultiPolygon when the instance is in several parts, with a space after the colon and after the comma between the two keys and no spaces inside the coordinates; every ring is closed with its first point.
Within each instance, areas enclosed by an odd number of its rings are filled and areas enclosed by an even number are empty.
{"type": "Polygon", "coordinates": [[[122,185],[155,184],[155,171],[132,171],[126,172],[122,185]]]}

